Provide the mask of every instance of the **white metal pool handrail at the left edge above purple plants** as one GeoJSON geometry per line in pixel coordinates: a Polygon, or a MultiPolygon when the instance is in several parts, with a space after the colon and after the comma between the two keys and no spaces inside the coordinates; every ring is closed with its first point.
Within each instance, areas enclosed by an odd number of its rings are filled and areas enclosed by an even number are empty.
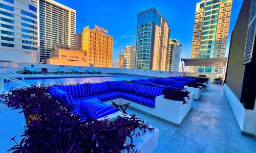
{"type": "Polygon", "coordinates": [[[5,93],[7,93],[7,91],[4,90],[5,80],[6,80],[6,81],[9,80],[9,81],[18,83],[18,84],[23,85],[23,86],[25,86],[25,87],[30,87],[30,84],[28,84],[28,83],[26,83],[26,82],[23,81],[23,80],[24,80],[23,75],[20,75],[20,74],[18,74],[18,73],[15,73],[15,72],[13,72],[13,71],[11,71],[11,70],[7,70],[6,74],[3,74],[3,75],[0,76],[0,94],[5,94],[5,93]],[[14,77],[10,77],[10,76],[8,75],[9,73],[13,73],[13,74],[19,76],[20,78],[22,78],[22,80],[19,80],[19,79],[14,78],[14,77]]]}

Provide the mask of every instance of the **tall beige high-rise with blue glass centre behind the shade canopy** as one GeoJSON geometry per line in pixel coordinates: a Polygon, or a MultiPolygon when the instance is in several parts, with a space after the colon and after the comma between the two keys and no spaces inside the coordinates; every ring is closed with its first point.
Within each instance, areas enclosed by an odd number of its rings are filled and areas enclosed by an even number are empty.
{"type": "MultiPolygon", "coordinates": [[[[225,57],[232,0],[197,3],[191,58],[225,57]]],[[[191,66],[190,72],[222,73],[223,67],[191,66]]]]}

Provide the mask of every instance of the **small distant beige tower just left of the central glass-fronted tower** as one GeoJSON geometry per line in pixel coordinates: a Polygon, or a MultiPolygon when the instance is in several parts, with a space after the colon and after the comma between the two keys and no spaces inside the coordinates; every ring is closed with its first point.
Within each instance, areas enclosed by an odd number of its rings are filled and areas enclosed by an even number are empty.
{"type": "Polygon", "coordinates": [[[126,46],[123,53],[123,68],[135,68],[136,46],[126,46]]]}

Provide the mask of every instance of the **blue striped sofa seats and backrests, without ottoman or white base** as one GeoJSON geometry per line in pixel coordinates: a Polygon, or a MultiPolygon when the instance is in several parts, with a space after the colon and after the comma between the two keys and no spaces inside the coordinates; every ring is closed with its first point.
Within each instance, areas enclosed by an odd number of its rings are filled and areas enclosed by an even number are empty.
{"type": "MultiPolygon", "coordinates": [[[[163,88],[125,83],[123,81],[109,81],[73,86],[52,86],[49,88],[49,93],[56,97],[60,103],[72,106],[73,113],[84,114],[79,108],[80,104],[95,98],[103,102],[121,97],[147,107],[155,108],[155,97],[163,94],[163,88]]],[[[86,115],[90,116],[91,114],[86,115]]]]}

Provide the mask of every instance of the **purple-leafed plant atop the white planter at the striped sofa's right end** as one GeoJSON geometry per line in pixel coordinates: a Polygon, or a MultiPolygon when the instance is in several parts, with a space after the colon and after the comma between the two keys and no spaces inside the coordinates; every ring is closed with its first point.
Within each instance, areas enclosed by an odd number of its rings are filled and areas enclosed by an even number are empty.
{"type": "Polygon", "coordinates": [[[183,104],[188,104],[188,101],[190,92],[187,90],[182,90],[182,89],[175,89],[175,88],[170,88],[170,89],[165,89],[163,91],[163,97],[165,99],[170,99],[170,100],[176,100],[176,101],[182,101],[183,104]]]}

